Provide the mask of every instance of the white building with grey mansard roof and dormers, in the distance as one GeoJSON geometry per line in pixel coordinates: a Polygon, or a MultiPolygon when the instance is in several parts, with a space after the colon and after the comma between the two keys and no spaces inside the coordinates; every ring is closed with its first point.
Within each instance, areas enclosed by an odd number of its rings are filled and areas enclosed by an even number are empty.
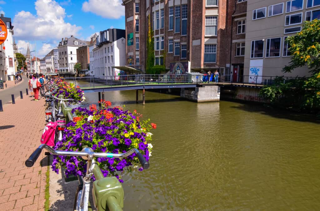
{"type": "Polygon", "coordinates": [[[62,38],[59,42],[59,72],[74,73],[74,66],[77,63],[76,49],[81,46],[86,46],[87,42],[79,40],[71,35],[70,38],[62,38]]]}

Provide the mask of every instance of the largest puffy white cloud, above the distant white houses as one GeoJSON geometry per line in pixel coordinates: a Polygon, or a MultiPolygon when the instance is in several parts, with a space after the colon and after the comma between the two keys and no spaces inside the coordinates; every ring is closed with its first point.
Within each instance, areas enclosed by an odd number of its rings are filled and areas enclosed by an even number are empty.
{"type": "Polygon", "coordinates": [[[54,0],[37,0],[36,15],[20,11],[13,18],[14,35],[21,40],[50,40],[77,36],[80,26],[66,23],[65,10],[54,0]]]}

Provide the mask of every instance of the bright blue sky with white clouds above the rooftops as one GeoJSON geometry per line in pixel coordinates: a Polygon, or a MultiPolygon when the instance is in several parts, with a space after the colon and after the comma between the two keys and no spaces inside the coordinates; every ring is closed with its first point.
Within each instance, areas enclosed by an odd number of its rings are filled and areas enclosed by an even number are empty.
{"type": "MultiPolygon", "coordinates": [[[[26,53],[28,42],[37,57],[56,47],[62,37],[90,36],[108,28],[125,27],[121,0],[0,0],[0,11],[12,18],[18,51],[26,53]]],[[[34,53],[33,53],[34,54],[34,53]]]]}

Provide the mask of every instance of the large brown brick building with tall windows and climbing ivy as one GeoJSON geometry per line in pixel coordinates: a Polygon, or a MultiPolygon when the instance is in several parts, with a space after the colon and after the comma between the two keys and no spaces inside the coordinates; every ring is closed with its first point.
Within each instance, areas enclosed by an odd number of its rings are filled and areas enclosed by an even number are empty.
{"type": "Polygon", "coordinates": [[[126,65],[145,66],[146,43],[152,39],[154,65],[164,65],[166,70],[179,71],[179,74],[215,69],[228,72],[233,3],[222,0],[123,0],[126,65]]]}

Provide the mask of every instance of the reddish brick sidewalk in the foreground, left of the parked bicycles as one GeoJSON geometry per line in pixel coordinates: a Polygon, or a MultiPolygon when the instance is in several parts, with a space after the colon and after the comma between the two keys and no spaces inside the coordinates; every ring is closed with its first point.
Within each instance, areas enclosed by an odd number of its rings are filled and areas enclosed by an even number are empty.
{"type": "Polygon", "coordinates": [[[42,152],[33,167],[24,164],[40,145],[45,123],[44,99],[32,99],[24,95],[0,112],[0,210],[44,210],[47,157],[42,152]]]}

